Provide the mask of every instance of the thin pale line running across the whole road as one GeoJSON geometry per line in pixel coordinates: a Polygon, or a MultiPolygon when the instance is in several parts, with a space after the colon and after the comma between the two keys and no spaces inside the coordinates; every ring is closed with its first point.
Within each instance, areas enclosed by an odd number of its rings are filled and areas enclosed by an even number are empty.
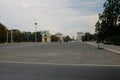
{"type": "Polygon", "coordinates": [[[102,64],[68,64],[68,63],[41,63],[41,62],[18,62],[18,61],[0,61],[0,63],[13,63],[13,64],[40,64],[40,65],[61,65],[61,66],[100,66],[100,67],[120,67],[120,65],[102,65],[102,64]]]}

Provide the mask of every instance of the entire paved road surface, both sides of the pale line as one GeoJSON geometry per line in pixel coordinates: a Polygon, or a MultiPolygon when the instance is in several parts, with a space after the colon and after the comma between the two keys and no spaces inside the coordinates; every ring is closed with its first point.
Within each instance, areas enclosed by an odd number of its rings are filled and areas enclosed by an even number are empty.
{"type": "Polygon", "coordinates": [[[120,55],[85,43],[0,46],[0,80],[118,80],[120,55]]]}

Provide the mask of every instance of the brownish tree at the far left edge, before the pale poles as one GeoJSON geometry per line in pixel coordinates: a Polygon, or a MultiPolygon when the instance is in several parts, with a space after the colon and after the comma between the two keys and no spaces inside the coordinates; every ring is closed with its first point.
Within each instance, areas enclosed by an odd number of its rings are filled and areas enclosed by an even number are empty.
{"type": "Polygon", "coordinates": [[[4,43],[7,40],[7,28],[0,23],[0,43],[4,43]]]}

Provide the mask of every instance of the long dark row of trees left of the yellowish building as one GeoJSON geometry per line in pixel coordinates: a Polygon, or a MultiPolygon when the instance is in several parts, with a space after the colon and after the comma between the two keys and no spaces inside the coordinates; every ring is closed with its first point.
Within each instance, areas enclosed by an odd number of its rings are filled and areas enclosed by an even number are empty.
{"type": "MultiPolygon", "coordinates": [[[[37,32],[37,42],[42,41],[42,35],[37,32]]],[[[5,42],[35,42],[35,32],[21,32],[17,29],[8,30],[0,23],[0,43],[5,42]]]]}

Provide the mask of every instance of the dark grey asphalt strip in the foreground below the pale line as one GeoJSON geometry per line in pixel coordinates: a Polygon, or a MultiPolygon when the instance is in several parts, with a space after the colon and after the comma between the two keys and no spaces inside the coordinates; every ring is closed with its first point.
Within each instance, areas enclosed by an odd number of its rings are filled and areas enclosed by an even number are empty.
{"type": "Polygon", "coordinates": [[[119,80],[120,66],[1,63],[0,80],[119,80]]]}

